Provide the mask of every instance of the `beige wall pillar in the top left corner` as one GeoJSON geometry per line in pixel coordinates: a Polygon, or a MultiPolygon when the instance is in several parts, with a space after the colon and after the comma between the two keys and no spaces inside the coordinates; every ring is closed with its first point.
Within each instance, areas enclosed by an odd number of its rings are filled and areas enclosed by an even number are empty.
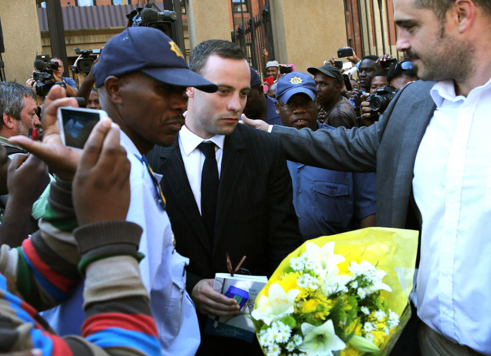
{"type": "Polygon", "coordinates": [[[17,79],[25,83],[32,75],[36,52],[41,53],[36,2],[0,0],[0,14],[5,44],[5,53],[2,53],[5,76],[9,81],[17,79]],[[22,14],[21,23],[19,16],[12,14],[22,14]]]}

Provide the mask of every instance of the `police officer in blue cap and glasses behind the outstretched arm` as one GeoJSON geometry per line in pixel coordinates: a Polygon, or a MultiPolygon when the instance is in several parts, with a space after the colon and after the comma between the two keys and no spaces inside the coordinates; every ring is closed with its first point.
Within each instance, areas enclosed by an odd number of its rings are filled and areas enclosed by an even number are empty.
{"type": "MultiPolygon", "coordinates": [[[[314,79],[300,72],[278,80],[276,112],[298,130],[336,130],[317,121],[314,79]]],[[[294,206],[305,240],[375,225],[375,173],[346,173],[288,161],[294,206]]]]}

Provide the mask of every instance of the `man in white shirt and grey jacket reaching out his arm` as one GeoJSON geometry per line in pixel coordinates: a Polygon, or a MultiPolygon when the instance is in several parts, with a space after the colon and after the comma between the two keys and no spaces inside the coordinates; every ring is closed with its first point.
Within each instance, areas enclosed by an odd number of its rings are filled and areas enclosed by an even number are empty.
{"type": "Polygon", "coordinates": [[[377,226],[421,226],[423,355],[491,355],[491,2],[394,0],[397,49],[423,80],[368,128],[281,135],[288,159],[377,172],[377,226]],[[413,199],[414,197],[414,199],[413,199]],[[413,225],[414,226],[414,225],[413,225]]]}

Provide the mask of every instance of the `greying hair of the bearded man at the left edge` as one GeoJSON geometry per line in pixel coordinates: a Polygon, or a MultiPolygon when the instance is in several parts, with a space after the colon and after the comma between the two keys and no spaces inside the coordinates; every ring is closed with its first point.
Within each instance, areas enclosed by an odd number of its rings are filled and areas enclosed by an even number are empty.
{"type": "MultiPolygon", "coordinates": [[[[37,100],[36,93],[32,88],[14,81],[0,81],[0,114],[11,115],[20,120],[20,112],[24,109],[24,98],[37,100]]],[[[2,127],[4,120],[0,120],[2,127]]]]}

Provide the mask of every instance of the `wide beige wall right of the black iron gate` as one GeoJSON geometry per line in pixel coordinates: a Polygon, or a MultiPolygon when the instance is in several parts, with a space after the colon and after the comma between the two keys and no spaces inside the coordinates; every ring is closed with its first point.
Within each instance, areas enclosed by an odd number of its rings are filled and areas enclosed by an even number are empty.
{"type": "Polygon", "coordinates": [[[275,54],[297,72],[322,66],[347,45],[343,0],[270,0],[275,54]]]}

